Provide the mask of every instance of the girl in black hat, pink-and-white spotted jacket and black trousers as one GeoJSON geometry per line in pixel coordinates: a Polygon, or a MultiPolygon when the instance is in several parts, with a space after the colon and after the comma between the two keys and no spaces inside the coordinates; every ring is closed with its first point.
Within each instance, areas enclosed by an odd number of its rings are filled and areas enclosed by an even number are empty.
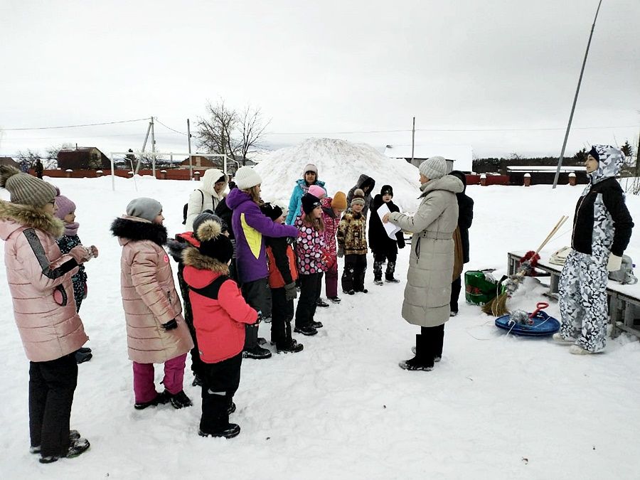
{"type": "Polygon", "coordinates": [[[321,278],[326,257],[324,253],[324,223],[319,198],[305,193],[302,196],[302,215],[296,219],[300,238],[296,244],[300,298],[296,309],[294,331],[303,335],[315,335],[322,324],[314,321],[317,299],[320,296],[321,278]]]}

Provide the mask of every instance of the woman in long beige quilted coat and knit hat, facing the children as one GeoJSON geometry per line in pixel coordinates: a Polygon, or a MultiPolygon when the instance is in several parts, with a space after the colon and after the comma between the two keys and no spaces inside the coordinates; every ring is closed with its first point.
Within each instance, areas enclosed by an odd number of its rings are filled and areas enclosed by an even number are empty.
{"type": "Polygon", "coordinates": [[[419,170],[422,201],[415,215],[393,212],[383,218],[383,223],[413,233],[402,318],[419,325],[420,334],[415,336],[415,357],[400,363],[405,370],[431,370],[442,356],[454,270],[452,236],[458,223],[455,194],[463,189],[459,178],[446,175],[442,156],[425,160],[419,170]]]}

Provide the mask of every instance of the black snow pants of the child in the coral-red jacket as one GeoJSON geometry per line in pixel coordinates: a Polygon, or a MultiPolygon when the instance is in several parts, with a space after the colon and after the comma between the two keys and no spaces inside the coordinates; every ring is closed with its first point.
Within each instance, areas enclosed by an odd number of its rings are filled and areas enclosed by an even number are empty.
{"type": "Polygon", "coordinates": [[[242,352],[218,363],[203,364],[201,432],[215,434],[229,427],[228,409],[240,385],[240,366],[242,352]]]}

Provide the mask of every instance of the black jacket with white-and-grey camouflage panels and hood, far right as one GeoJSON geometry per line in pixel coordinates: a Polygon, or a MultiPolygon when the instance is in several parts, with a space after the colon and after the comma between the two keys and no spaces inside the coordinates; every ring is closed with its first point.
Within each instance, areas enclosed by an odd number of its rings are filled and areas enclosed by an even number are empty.
{"type": "Polygon", "coordinates": [[[607,261],[609,253],[622,257],[631,240],[634,222],[624,203],[624,192],[616,180],[624,156],[610,145],[594,145],[599,161],[590,185],[577,201],[571,246],[577,252],[607,261]]]}

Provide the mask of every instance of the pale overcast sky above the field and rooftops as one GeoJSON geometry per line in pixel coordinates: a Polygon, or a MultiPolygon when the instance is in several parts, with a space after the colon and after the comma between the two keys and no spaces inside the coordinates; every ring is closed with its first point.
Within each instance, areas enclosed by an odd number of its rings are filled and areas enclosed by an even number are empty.
{"type": "MultiPolygon", "coordinates": [[[[0,0],[0,155],[138,150],[146,122],[11,129],[154,116],[185,132],[223,98],[261,107],[272,147],[410,144],[415,116],[417,144],[557,156],[597,3],[0,0]]],[[[567,154],[637,145],[639,23],[640,1],[603,0],[567,154]]],[[[156,124],[156,148],[186,137],[156,124]]]]}

